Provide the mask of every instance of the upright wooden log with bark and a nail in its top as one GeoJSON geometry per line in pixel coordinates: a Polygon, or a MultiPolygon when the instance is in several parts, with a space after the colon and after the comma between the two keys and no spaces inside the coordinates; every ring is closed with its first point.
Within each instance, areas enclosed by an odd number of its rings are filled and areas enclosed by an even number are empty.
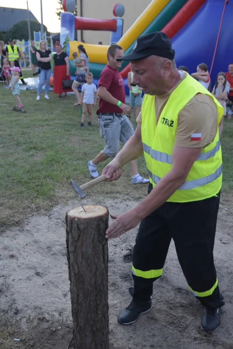
{"type": "Polygon", "coordinates": [[[85,205],[66,215],[75,349],[109,349],[108,208],[85,205]],[[86,212],[84,212],[83,207],[86,212]]]}

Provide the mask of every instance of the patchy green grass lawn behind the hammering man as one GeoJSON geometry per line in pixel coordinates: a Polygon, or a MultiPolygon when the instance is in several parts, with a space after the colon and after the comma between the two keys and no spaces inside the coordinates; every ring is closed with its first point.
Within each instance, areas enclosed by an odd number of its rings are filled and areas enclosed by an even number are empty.
{"type": "MultiPolygon", "coordinates": [[[[30,71],[24,72],[31,76],[30,71]]],[[[93,127],[79,127],[81,110],[73,107],[75,97],[36,101],[36,91],[21,91],[26,114],[11,111],[15,105],[11,92],[0,84],[0,225],[16,224],[29,214],[44,212],[56,204],[67,203],[76,194],[70,179],[83,184],[91,177],[87,161],[103,149],[97,117],[93,127]]],[[[135,114],[132,116],[134,127],[135,114]]],[[[233,190],[233,120],[224,122],[223,193],[233,190]]],[[[108,163],[99,165],[99,172],[108,163]]],[[[143,157],[139,173],[147,175],[143,157]]],[[[131,185],[129,166],[113,183],[92,187],[87,192],[100,201],[104,197],[142,198],[147,186],[131,185]]],[[[229,196],[230,197],[230,196],[229,196]]]]}

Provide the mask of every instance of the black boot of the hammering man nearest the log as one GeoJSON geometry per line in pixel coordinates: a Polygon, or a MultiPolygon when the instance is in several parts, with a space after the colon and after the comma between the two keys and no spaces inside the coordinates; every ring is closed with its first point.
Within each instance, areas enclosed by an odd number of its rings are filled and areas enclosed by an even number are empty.
{"type": "Polygon", "coordinates": [[[121,310],[118,315],[118,322],[122,325],[131,325],[137,320],[139,315],[149,312],[151,308],[151,299],[150,301],[144,301],[133,298],[130,305],[121,310]]]}

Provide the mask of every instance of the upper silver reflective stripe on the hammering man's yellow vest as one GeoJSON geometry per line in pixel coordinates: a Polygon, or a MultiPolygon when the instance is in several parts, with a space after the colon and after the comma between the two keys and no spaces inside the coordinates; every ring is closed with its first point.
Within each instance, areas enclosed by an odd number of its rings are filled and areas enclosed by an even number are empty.
{"type": "MultiPolygon", "coordinates": [[[[161,162],[166,162],[170,165],[172,165],[172,155],[162,153],[157,150],[151,149],[151,147],[145,143],[142,143],[143,146],[143,151],[147,153],[148,155],[151,156],[154,160],[161,161],[161,162]]],[[[199,156],[197,157],[197,160],[207,160],[210,158],[213,158],[216,154],[216,152],[220,149],[220,140],[217,141],[216,146],[209,150],[206,153],[200,153],[199,156]]]]}

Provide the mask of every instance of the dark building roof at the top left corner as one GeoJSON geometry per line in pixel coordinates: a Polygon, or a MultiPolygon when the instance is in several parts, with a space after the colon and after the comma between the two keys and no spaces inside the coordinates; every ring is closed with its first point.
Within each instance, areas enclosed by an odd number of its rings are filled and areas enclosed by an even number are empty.
{"type": "MultiPolygon", "coordinates": [[[[39,21],[35,18],[29,10],[30,20],[39,21]]],[[[11,27],[22,19],[28,19],[27,10],[14,9],[11,7],[0,7],[0,32],[7,32],[11,27]]]]}

